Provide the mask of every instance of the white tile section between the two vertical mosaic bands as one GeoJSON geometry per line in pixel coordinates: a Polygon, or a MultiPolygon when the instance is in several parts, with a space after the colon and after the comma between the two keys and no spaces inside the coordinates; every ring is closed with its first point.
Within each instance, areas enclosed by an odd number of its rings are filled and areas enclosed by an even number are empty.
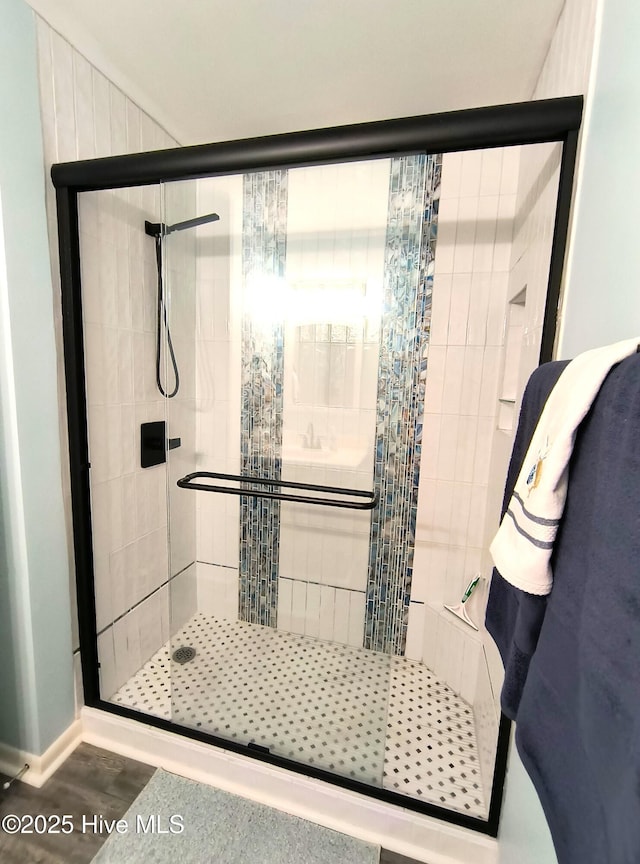
{"type": "MultiPolygon", "coordinates": [[[[286,278],[297,304],[285,333],[286,480],[372,488],[389,165],[289,172],[286,278]]],[[[279,628],[362,645],[370,514],[281,513],[280,588],[292,580],[293,590],[279,628]]]]}

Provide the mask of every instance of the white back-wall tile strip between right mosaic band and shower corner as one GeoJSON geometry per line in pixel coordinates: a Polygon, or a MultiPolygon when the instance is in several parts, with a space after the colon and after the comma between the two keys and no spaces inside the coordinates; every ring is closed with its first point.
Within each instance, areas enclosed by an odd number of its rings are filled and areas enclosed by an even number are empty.
{"type": "MultiPolygon", "coordinates": [[[[443,157],[411,592],[433,608],[460,599],[484,542],[519,157],[443,157]]],[[[417,610],[410,620],[430,638],[417,610]]]]}

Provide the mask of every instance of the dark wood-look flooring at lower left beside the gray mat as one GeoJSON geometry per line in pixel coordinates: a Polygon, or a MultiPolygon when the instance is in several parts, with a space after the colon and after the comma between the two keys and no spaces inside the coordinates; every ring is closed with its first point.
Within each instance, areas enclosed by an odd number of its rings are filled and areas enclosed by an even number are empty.
{"type": "MultiPolygon", "coordinates": [[[[0,789],[0,819],[7,814],[72,817],[71,834],[17,834],[0,830],[2,864],[89,864],[107,839],[89,830],[82,833],[82,817],[102,815],[119,819],[144,789],[155,771],[150,765],[116,756],[90,744],[80,744],[67,761],[44,784],[34,789],[14,783],[0,789]]],[[[0,781],[7,779],[0,775],[0,781]]],[[[411,858],[382,850],[380,864],[418,864],[411,858]]]]}

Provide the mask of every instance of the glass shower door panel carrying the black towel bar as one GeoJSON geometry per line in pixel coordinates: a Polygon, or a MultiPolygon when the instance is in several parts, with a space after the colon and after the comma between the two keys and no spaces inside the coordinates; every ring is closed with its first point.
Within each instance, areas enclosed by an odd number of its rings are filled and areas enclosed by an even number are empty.
{"type": "Polygon", "coordinates": [[[195,506],[197,526],[195,564],[172,581],[171,653],[185,649],[172,719],[377,787],[391,657],[363,648],[375,511],[357,508],[374,488],[389,172],[384,160],[164,188],[167,223],[188,188],[198,215],[220,217],[194,232],[195,296],[165,241],[171,330],[195,314],[196,334],[193,409],[167,405],[169,435],[188,426],[195,446],[170,451],[169,476],[269,478],[304,488],[263,491],[356,505],[170,488],[172,559],[173,513],[195,506]]]}

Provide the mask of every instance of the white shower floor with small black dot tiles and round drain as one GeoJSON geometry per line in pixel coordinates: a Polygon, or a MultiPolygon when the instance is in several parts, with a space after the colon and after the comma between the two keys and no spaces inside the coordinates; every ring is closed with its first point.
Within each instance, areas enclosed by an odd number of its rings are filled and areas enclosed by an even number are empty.
{"type": "Polygon", "coordinates": [[[112,701],[486,817],[471,707],[402,657],[197,614],[112,701]]]}

